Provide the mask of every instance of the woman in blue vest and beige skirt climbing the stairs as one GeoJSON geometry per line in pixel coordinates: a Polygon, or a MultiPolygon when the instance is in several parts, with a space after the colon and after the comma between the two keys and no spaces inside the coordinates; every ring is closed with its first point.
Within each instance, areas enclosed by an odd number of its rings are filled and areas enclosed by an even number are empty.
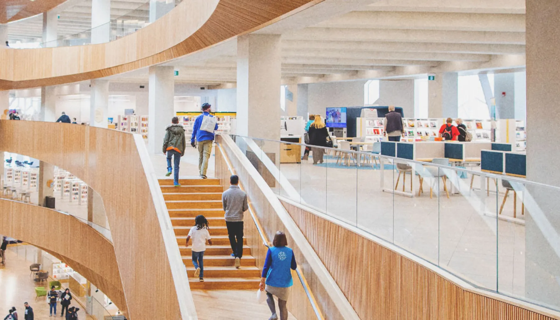
{"type": "Polygon", "coordinates": [[[292,249],[286,247],[288,240],[282,231],[277,231],[272,242],[273,247],[268,248],[267,258],[264,261],[263,274],[260,279],[260,291],[267,291],[267,303],[272,312],[268,320],[277,320],[276,305],[274,305],[273,295],[278,298],[278,308],[280,309],[280,319],[288,319],[288,309],[286,302],[290,297],[290,287],[293,285],[292,270],[296,270],[296,258],[293,256],[292,249]],[[265,286],[266,284],[266,286],[265,286]]]}

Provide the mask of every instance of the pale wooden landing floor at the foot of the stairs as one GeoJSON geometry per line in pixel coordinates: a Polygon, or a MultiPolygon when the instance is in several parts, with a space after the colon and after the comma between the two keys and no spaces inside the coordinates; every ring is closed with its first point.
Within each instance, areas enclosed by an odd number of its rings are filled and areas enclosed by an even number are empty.
{"type": "MultiPolygon", "coordinates": [[[[267,320],[266,302],[256,302],[256,290],[192,290],[199,320],[267,320]]],[[[288,304],[290,301],[288,300],[288,304]]],[[[278,312],[278,302],[276,302],[278,312]]],[[[296,319],[290,313],[288,319],[296,319]]]]}

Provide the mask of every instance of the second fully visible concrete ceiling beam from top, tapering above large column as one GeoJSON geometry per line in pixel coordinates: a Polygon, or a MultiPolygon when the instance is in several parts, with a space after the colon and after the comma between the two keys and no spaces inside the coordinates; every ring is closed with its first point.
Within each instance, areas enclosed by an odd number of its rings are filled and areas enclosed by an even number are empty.
{"type": "Polygon", "coordinates": [[[489,31],[305,28],[286,35],[287,40],[388,41],[413,43],[522,44],[525,33],[489,31]]]}

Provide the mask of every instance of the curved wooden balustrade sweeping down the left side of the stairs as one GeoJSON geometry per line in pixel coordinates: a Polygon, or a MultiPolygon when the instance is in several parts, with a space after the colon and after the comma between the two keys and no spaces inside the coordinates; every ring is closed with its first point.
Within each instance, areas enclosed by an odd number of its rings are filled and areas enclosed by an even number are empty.
{"type": "MultiPolygon", "coordinates": [[[[0,120],[0,137],[0,151],[64,168],[100,194],[122,275],[128,319],[181,319],[155,209],[156,196],[163,196],[159,188],[153,191],[159,194],[152,194],[148,186],[133,135],[66,123],[0,120]]],[[[189,287],[188,283],[180,286],[189,287]]],[[[188,311],[195,317],[194,310],[188,311]]],[[[188,316],[183,314],[185,319],[188,316]]]]}

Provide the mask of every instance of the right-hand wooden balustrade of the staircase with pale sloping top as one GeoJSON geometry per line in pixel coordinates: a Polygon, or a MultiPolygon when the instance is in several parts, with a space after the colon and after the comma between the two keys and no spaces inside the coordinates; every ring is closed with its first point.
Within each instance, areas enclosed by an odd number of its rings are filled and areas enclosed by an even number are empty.
{"type": "MultiPolygon", "coordinates": [[[[227,165],[223,160],[226,156],[230,161],[232,168],[235,168],[235,173],[239,176],[240,183],[244,188],[245,192],[248,194],[249,202],[251,206],[255,209],[255,214],[258,217],[264,232],[269,239],[272,241],[274,239],[274,234],[276,231],[282,230],[286,233],[288,240],[288,247],[292,248],[296,256],[296,261],[301,268],[302,273],[306,277],[306,280],[311,288],[312,293],[315,295],[316,300],[318,300],[319,308],[323,312],[326,319],[342,319],[344,318],[337,306],[334,304],[333,300],[328,295],[325,287],[321,284],[321,281],[315,275],[312,270],[310,263],[305,259],[304,255],[301,253],[295,240],[293,240],[292,235],[286,229],[281,218],[276,214],[276,210],[267,200],[259,185],[255,183],[255,180],[251,177],[249,171],[244,168],[244,165],[237,159],[233,151],[229,149],[226,143],[222,143],[222,137],[217,137],[217,142],[222,146],[225,155],[220,154],[220,150],[216,151],[216,177],[223,181],[227,177],[227,185],[229,184],[228,179],[230,177],[230,171],[227,169],[227,165]]],[[[268,248],[262,245],[260,240],[260,235],[253,228],[254,222],[250,220],[249,214],[245,214],[245,236],[248,238],[248,245],[251,246],[251,254],[255,257],[257,261],[257,266],[262,268],[264,265],[264,259],[268,248]]],[[[297,319],[316,319],[314,310],[312,309],[309,299],[301,286],[299,279],[294,279],[294,286],[292,288],[292,294],[290,301],[288,301],[288,309],[297,319]]]]}

